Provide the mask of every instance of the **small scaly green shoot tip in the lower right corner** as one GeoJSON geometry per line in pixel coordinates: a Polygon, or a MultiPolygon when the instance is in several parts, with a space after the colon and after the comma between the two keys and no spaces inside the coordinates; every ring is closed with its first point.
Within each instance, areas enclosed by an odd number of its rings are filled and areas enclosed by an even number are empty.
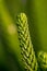
{"type": "Polygon", "coordinates": [[[47,71],[47,52],[39,51],[38,62],[43,71],[47,71]]]}

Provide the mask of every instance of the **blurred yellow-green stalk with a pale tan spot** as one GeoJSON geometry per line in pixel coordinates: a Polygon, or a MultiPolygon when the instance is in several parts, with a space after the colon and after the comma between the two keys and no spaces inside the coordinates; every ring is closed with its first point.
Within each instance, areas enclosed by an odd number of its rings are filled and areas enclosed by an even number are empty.
{"type": "Polygon", "coordinates": [[[16,26],[14,25],[13,20],[10,17],[3,0],[0,1],[0,14],[2,20],[2,23],[0,23],[0,25],[1,25],[2,38],[5,45],[5,49],[10,54],[14,55],[17,67],[23,71],[23,62],[21,59],[22,56],[19,46],[16,26]]]}

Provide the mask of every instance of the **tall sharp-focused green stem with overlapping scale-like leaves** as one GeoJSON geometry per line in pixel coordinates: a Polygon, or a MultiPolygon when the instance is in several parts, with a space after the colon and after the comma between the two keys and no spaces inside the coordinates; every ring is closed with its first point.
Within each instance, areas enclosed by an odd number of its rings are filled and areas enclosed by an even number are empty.
{"type": "Polygon", "coordinates": [[[27,16],[25,13],[20,13],[16,16],[16,26],[21,47],[22,61],[26,71],[37,71],[38,64],[35,57],[35,51],[31,42],[27,16]]]}

